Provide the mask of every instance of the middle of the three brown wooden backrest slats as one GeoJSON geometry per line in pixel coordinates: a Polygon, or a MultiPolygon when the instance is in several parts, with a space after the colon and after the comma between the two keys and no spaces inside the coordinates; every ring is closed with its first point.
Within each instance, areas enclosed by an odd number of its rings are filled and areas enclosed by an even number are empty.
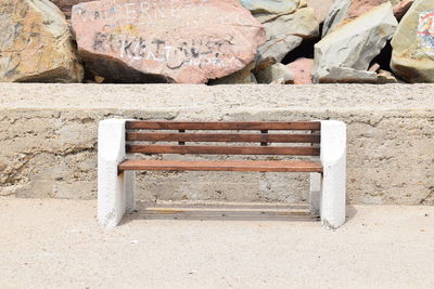
{"type": "Polygon", "coordinates": [[[268,133],[151,133],[127,132],[127,141],[144,142],[267,142],[267,143],[319,143],[318,134],[268,134],[268,133]]]}

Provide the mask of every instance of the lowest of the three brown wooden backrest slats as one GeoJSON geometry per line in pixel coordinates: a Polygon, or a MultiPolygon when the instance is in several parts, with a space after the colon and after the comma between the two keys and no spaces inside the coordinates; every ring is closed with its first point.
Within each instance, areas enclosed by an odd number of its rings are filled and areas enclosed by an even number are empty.
{"type": "Polygon", "coordinates": [[[200,146],[200,145],[127,145],[127,153],[136,154],[207,154],[207,155],[289,155],[319,156],[319,147],[289,146],[200,146]]]}

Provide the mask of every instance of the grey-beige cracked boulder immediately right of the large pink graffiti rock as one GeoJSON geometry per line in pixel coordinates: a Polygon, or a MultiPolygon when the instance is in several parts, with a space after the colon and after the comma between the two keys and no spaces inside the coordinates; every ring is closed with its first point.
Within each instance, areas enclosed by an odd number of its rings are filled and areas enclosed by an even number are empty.
{"type": "Polygon", "coordinates": [[[319,35],[314,9],[304,0],[241,0],[265,26],[267,42],[259,48],[257,62],[278,63],[304,39],[319,35]]]}

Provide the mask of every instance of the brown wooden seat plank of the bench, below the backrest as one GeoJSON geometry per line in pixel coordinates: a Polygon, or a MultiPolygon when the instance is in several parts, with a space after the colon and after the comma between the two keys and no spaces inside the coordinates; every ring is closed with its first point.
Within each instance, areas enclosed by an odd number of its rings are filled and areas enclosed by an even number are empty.
{"type": "Polygon", "coordinates": [[[127,170],[156,171],[251,171],[251,172],[322,172],[320,161],[311,160],[146,160],[128,159],[118,166],[127,170]]]}

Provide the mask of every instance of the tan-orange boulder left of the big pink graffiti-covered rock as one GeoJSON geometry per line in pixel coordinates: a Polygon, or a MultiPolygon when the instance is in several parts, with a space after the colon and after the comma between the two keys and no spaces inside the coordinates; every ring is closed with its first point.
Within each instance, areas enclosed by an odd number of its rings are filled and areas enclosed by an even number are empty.
{"type": "Polygon", "coordinates": [[[81,80],[66,19],[53,3],[0,0],[0,81],[81,80]]]}

